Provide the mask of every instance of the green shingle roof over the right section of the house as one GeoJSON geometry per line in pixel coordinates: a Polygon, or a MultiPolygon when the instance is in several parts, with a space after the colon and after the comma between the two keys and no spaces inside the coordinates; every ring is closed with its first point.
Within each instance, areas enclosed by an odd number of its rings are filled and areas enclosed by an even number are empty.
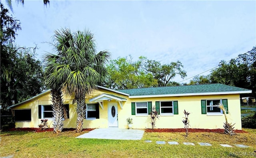
{"type": "Polygon", "coordinates": [[[138,89],[122,89],[118,90],[123,93],[128,93],[130,96],[137,95],[167,95],[167,94],[185,94],[185,93],[214,93],[214,92],[229,92],[229,91],[250,91],[249,89],[215,84],[202,85],[183,85],[170,87],[150,87],[138,89]]]}

